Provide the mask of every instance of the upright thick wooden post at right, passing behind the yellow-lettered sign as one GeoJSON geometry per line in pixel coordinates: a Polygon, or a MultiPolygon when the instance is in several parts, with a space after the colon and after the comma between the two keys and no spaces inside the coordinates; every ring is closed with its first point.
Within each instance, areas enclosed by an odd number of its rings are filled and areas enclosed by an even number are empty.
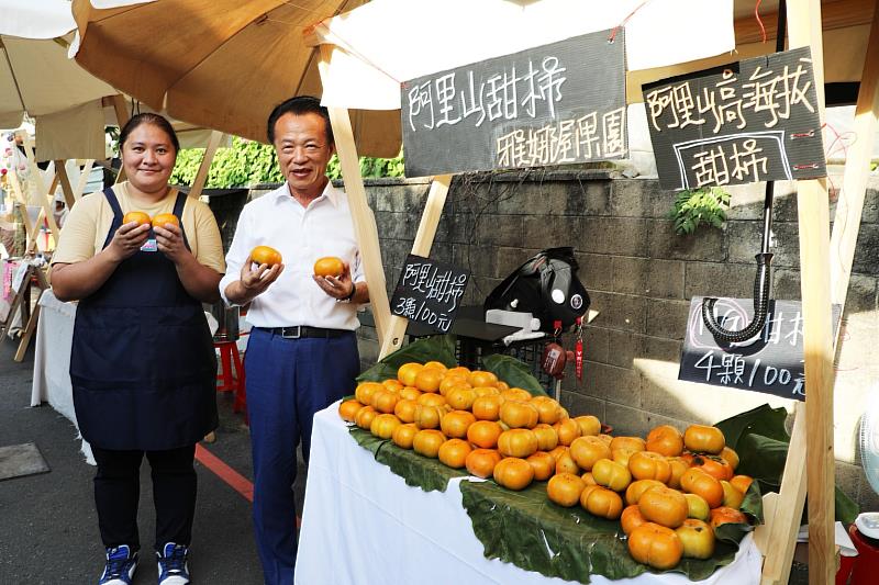
{"type": "MultiPolygon", "coordinates": [[[[824,122],[824,52],[821,0],[788,2],[790,47],[811,46],[824,122]]],[[[833,327],[830,291],[830,202],[826,178],[797,181],[800,284],[805,370],[809,583],[826,585],[836,574],[834,555],[833,327]]],[[[782,498],[786,494],[781,494],[782,498]]],[[[785,504],[782,502],[781,506],[785,504]]],[[[799,514],[799,510],[798,510],[799,514]]],[[[776,518],[778,518],[776,514],[776,518]]],[[[799,517],[797,517],[799,520],[799,517]]]]}

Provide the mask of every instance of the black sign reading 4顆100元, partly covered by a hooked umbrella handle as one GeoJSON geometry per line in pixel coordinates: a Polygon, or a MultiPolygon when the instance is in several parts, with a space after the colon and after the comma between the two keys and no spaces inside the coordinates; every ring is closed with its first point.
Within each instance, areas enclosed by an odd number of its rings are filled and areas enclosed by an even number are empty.
{"type": "MultiPolygon", "coordinates": [[[[839,311],[839,305],[833,305],[834,331],[839,311]]],[[[754,316],[754,301],[720,299],[714,314],[725,329],[743,329],[754,316]]],[[[799,301],[769,301],[766,326],[758,337],[743,344],[719,344],[702,320],[702,297],[694,296],[678,380],[804,401],[802,305],[799,301]]]]}

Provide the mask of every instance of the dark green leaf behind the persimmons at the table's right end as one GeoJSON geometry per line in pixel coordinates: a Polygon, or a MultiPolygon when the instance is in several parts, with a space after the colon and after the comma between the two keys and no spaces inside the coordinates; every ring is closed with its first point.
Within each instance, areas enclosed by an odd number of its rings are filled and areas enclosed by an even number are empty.
{"type": "MultiPolygon", "coordinates": [[[[786,418],[785,408],[764,404],[715,425],[726,437],[726,445],[738,453],[741,461],[736,473],[757,480],[764,492],[778,492],[781,485],[790,442],[790,436],[785,430],[786,418]]],[[[844,524],[855,521],[858,505],[838,486],[834,493],[834,505],[837,520],[844,524]]]]}

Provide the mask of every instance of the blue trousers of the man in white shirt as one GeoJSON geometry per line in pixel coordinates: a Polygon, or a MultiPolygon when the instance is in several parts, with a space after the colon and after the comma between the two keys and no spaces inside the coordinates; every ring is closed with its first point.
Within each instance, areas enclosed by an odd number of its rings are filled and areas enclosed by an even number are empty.
{"type": "Polygon", "coordinates": [[[266,585],[292,585],[296,565],[296,450],[308,462],[314,413],[355,389],[360,371],[352,333],[285,339],[256,329],[245,357],[254,459],[254,529],[266,585]]]}

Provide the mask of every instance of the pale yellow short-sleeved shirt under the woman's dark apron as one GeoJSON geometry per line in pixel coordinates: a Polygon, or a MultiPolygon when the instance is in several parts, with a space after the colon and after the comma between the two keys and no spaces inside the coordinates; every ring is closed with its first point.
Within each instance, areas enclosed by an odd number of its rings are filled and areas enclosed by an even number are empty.
{"type": "MultiPolygon", "coordinates": [[[[129,183],[113,185],[113,192],[122,207],[122,213],[142,211],[154,217],[159,213],[173,213],[177,201],[177,190],[156,203],[142,201],[129,192],[129,183]]],[[[88,260],[103,249],[103,243],[113,223],[113,210],[103,192],[97,191],[76,202],[64,223],[58,247],[52,256],[52,263],[74,263],[88,260]]],[[[220,228],[211,209],[201,201],[187,198],[182,213],[183,232],[189,248],[196,259],[213,268],[221,274],[225,272],[223,243],[220,228]]]]}

